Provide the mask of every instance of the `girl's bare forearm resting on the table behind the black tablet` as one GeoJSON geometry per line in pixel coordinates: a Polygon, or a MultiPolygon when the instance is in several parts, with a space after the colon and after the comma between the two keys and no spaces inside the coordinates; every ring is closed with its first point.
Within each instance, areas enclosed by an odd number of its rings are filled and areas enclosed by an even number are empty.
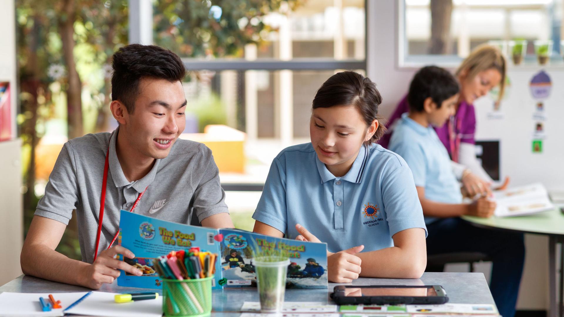
{"type": "Polygon", "coordinates": [[[410,252],[397,246],[355,254],[362,259],[363,278],[418,279],[425,271],[425,253],[410,252]]]}

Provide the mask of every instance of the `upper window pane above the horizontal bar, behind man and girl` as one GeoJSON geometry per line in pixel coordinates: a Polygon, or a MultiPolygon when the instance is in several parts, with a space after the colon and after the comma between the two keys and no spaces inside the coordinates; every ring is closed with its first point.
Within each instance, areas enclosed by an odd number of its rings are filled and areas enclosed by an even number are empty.
{"type": "Polygon", "coordinates": [[[158,1],[153,38],[186,58],[364,60],[364,1],[158,1]],[[246,50],[254,44],[256,51],[246,50]]]}

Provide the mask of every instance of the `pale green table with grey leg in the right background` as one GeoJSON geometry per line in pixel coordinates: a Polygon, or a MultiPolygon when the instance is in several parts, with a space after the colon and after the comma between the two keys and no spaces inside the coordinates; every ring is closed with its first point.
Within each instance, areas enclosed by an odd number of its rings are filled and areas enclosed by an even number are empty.
{"type": "Polygon", "coordinates": [[[525,215],[519,217],[492,217],[479,218],[472,216],[463,216],[462,219],[474,224],[475,226],[493,228],[499,230],[519,231],[527,234],[547,235],[549,237],[549,296],[550,308],[549,316],[564,316],[563,307],[563,288],[564,288],[564,215],[560,209],[554,209],[550,212],[538,213],[533,215],[525,215]],[[559,309],[556,300],[556,247],[560,244],[560,279],[559,288],[559,309]]]}

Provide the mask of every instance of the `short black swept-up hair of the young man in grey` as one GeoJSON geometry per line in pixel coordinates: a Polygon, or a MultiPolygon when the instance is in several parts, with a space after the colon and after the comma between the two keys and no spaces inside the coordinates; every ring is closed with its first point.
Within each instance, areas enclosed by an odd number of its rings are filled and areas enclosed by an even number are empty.
{"type": "Polygon", "coordinates": [[[133,113],[141,78],[177,82],[186,76],[186,68],[178,55],[155,45],[120,47],[113,54],[112,68],[112,101],[122,102],[129,113],[133,113]]]}

